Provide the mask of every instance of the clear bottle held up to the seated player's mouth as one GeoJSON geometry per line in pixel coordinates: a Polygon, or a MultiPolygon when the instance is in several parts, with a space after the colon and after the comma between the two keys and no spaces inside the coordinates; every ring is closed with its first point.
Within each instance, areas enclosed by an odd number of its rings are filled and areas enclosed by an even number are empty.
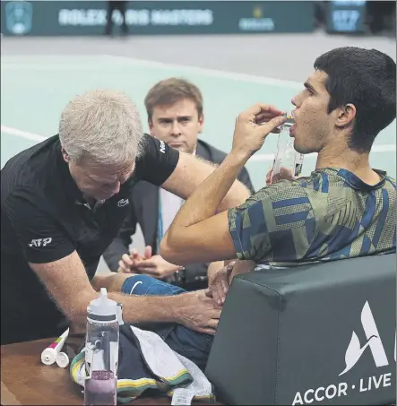
{"type": "Polygon", "coordinates": [[[294,119],[287,116],[287,121],[281,125],[277,152],[272,167],[272,182],[280,178],[292,179],[302,171],[303,154],[294,149],[294,139],[289,135],[289,129],[294,125],[294,119]]]}

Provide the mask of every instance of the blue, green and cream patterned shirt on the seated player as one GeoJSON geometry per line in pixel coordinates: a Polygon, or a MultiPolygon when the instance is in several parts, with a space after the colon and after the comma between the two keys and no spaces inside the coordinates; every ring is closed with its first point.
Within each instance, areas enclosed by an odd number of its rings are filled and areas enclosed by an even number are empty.
{"type": "Polygon", "coordinates": [[[396,183],[369,186],[346,169],[281,180],[229,209],[240,260],[283,267],[396,251],[396,183]]]}

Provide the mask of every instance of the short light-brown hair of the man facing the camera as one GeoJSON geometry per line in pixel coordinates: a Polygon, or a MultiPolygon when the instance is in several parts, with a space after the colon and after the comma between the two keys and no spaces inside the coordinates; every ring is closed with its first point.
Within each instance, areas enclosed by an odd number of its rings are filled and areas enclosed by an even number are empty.
{"type": "Polygon", "coordinates": [[[157,82],[145,98],[148,118],[151,120],[154,108],[169,106],[183,99],[189,99],[194,102],[198,117],[203,114],[203,95],[194,83],[180,78],[168,78],[157,82]]]}

